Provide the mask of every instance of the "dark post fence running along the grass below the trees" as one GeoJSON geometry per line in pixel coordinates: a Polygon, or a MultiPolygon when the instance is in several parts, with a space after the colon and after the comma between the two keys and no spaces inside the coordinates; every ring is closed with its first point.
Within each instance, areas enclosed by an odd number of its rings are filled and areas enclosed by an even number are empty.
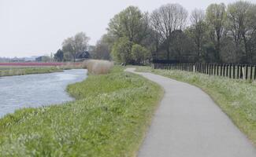
{"type": "Polygon", "coordinates": [[[206,75],[218,75],[229,79],[256,80],[256,65],[253,64],[154,64],[155,69],[168,69],[198,72],[206,75]]]}

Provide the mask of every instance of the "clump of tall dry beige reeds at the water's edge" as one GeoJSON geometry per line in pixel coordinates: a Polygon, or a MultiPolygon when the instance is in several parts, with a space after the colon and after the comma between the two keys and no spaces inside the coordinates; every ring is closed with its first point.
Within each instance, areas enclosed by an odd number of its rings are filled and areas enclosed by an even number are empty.
{"type": "Polygon", "coordinates": [[[113,62],[108,60],[85,60],[83,65],[94,75],[107,74],[113,68],[113,62]]]}

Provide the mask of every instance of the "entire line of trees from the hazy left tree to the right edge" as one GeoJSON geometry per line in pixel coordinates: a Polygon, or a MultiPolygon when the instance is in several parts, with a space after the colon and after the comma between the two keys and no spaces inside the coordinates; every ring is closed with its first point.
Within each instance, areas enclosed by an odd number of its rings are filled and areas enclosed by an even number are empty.
{"type": "MultiPolygon", "coordinates": [[[[82,32],[65,39],[63,58],[87,49],[88,39],[82,32]]],[[[90,53],[95,59],[125,64],[151,60],[255,64],[256,5],[210,4],[190,14],[179,4],[161,5],[151,13],[129,6],[113,16],[90,53]]]]}

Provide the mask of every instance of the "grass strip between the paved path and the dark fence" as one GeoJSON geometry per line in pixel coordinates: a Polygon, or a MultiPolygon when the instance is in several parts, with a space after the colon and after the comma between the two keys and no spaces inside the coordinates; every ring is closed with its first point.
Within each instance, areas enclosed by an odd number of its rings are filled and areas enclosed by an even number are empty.
{"type": "Polygon", "coordinates": [[[256,146],[256,82],[227,79],[187,71],[157,70],[149,67],[138,71],[153,72],[158,75],[188,82],[209,93],[213,100],[227,113],[256,146]]]}

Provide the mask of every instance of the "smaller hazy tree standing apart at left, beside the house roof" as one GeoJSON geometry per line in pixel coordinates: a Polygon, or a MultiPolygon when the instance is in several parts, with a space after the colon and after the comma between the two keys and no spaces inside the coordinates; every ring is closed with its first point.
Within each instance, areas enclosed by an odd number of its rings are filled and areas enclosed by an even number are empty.
{"type": "Polygon", "coordinates": [[[76,61],[76,53],[83,52],[87,49],[87,43],[89,37],[85,33],[77,33],[74,37],[66,38],[62,42],[62,49],[65,53],[69,53],[72,56],[73,61],[76,61]]]}

